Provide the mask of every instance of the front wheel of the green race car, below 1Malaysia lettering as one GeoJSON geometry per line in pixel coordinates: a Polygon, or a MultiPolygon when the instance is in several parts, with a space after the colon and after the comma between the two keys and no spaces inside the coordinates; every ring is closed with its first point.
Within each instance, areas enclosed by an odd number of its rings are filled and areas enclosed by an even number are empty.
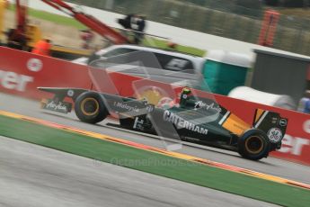
{"type": "Polygon", "coordinates": [[[75,114],[81,121],[97,123],[104,120],[109,115],[109,112],[100,94],[84,92],[75,100],[75,114]]]}

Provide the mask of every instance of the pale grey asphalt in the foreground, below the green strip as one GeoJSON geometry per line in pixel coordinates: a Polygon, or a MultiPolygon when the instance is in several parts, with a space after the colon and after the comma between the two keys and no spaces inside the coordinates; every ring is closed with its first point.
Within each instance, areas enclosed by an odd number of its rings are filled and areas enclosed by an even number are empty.
{"type": "Polygon", "coordinates": [[[0,206],[276,206],[0,136],[0,206]]]}

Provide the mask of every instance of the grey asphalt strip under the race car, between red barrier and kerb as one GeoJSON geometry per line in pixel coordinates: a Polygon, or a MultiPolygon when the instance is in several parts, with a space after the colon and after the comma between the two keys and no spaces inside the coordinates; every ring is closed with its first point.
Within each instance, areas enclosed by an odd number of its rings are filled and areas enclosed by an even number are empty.
{"type": "MultiPolygon", "coordinates": [[[[47,94],[46,97],[50,97],[49,94],[47,94]]],[[[99,132],[120,139],[132,140],[137,143],[142,143],[157,148],[164,148],[164,142],[160,139],[149,138],[134,133],[111,129],[105,127],[104,122],[97,125],[87,124],[79,121],[75,116],[75,112],[71,112],[69,114],[59,114],[55,112],[42,111],[40,110],[40,103],[38,101],[23,99],[9,94],[0,94],[0,110],[16,112],[46,121],[53,121],[83,130],[99,132]]],[[[310,184],[309,166],[303,166],[273,157],[264,158],[261,159],[261,161],[251,161],[244,159],[237,153],[231,151],[217,148],[196,148],[185,145],[183,145],[182,149],[178,150],[178,152],[310,184]]]]}

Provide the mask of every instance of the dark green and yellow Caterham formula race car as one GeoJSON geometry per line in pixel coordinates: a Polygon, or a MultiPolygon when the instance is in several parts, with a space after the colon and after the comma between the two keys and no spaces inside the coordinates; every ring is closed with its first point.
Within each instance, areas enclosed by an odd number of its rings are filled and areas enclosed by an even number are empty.
{"type": "Polygon", "coordinates": [[[253,124],[247,124],[212,99],[197,97],[183,88],[180,102],[155,106],[146,100],[104,94],[76,88],[39,87],[55,94],[41,107],[55,112],[70,112],[84,122],[97,123],[108,115],[120,120],[120,127],[151,133],[160,137],[181,139],[215,148],[239,152],[242,157],[258,160],[281,147],[288,120],[277,112],[257,109],[253,124]]]}

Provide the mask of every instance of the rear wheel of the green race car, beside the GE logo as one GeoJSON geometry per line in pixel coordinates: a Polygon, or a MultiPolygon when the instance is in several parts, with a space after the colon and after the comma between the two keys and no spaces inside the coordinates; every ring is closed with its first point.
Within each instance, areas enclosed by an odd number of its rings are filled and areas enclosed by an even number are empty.
{"type": "Polygon", "coordinates": [[[239,154],[248,159],[259,160],[268,157],[269,150],[269,139],[262,130],[247,130],[238,141],[239,154]]]}

